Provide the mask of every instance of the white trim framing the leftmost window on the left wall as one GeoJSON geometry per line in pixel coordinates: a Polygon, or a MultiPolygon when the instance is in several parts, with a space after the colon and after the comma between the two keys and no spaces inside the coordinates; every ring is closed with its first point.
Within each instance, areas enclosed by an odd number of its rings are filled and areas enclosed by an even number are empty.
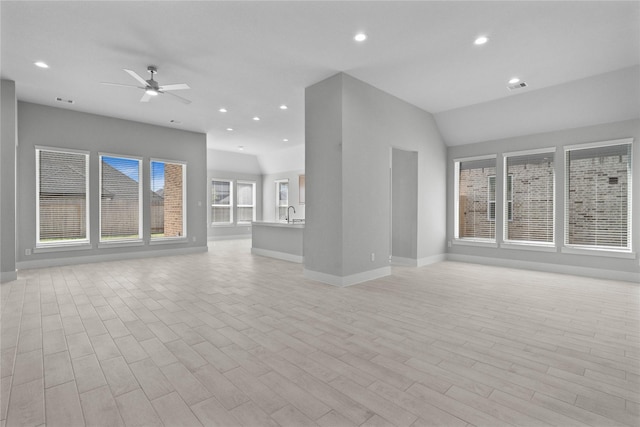
{"type": "MultiPolygon", "coordinates": [[[[89,171],[90,171],[90,152],[86,150],[76,150],[71,148],[56,148],[36,145],[36,247],[35,249],[61,249],[61,250],[74,250],[74,249],[90,249],[91,248],[91,224],[90,224],[90,186],[89,186],[89,171]],[[87,237],[84,239],[58,241],[58,242],[41,242],[40,241],[40,152],[49,151],[54,153],[66,153],[66,154],[82,154],[85,156],[85,224],[87,237]]],[[[40,251],[35,251],[40,252],[40,251]]]]}

